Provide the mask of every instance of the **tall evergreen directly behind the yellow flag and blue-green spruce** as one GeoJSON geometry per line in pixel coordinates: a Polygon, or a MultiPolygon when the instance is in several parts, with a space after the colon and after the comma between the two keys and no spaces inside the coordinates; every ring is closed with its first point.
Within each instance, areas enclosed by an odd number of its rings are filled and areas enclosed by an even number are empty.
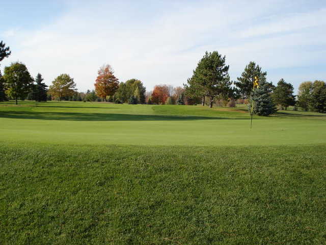
{"type": "Polygon", "coordinates": [[[238,82],[235,82],[235,85],[239,88],[240,97],[243,99],[248,99],[253,89],[255,77],[265,80],[266,75],[266,71],[261,71],[261,67],[256,65],[255,62],[251,61],[246,68],[244,68],[241,77],[238,78],[238,82]]]}

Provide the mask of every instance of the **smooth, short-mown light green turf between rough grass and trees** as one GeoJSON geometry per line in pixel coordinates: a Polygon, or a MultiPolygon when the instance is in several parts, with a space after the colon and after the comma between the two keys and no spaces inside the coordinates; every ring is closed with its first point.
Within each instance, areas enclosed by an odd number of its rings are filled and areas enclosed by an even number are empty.
{"type": "Polygon", "coordinates": [[[297,145],[326,142],[326,116],[280,111],[250,116],[241,108],[83,102],[0,104],[6,141],[119,145],[297,145]]]}

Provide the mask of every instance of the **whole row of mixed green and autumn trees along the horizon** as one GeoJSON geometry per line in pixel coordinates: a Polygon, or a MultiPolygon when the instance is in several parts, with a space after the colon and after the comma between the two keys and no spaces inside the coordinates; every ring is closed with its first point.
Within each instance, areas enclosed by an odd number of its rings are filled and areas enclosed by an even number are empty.
{"type": "MultiPolygon", "coordinates": [[[[0,42],[0,62],[11,54],[10,48],[0,42]]],[[[250,62],[237,81],[231,81],[226,56],[217,51],[206,52],[193,70],[183,87],[156,85],[152,91],[146,91],[142,81],[129,79],[119,82],[113,68],[106,64],[99,68],[94,83],[94,90],[78,92],[74,79],[68,74],[61,74],[48,87],[43,83],[41,74],[32,78],[26,66],[14,62],[5,67],[4,76],[0,71],[0,101],[15,100],[69,100],[69,101],[108,101],[117,104],[167,104],[194,105],[235,105],[242,101],[255,105],[253,112],[258,115],[270,115],[278,109],[286,110],[294,106],[306,111],[326,113],[326,84],[323,81],[303,82],[298,95],[293,92],[293,85],[280,79],[277,86],[267,82],[267,72],[255,62],[250,62]],[[258,80],[257,89],[253,89],[254,79],[258,80]],[[254,103],[252,103],[254,102],[254,103]]]]}

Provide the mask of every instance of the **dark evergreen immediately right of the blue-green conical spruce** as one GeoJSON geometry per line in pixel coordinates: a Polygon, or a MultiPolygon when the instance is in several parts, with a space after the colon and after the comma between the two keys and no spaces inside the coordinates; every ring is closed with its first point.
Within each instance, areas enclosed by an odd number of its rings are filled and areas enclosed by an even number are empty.
{"type": "Polygon", "coordinates": [[[295,104],[295,96],[293,95],[293,85],[286,83],[282,78],[278,83],[277,87],[273,91],[273,99],[277,105],[280,105],[281,110],[288,106],[295,104]]]}

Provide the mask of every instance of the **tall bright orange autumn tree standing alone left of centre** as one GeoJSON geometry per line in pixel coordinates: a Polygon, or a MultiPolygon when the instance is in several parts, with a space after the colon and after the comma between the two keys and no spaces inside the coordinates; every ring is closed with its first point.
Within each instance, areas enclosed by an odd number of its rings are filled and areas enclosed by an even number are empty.
{"type": "Polygon", "coordinates": [[[98,76],[94,83],[96,95],[106,101],[106,96],[114,95],[119,88],[119,79],[113,74],[111,65],[102,65],[97,72],[98,76]]]}

